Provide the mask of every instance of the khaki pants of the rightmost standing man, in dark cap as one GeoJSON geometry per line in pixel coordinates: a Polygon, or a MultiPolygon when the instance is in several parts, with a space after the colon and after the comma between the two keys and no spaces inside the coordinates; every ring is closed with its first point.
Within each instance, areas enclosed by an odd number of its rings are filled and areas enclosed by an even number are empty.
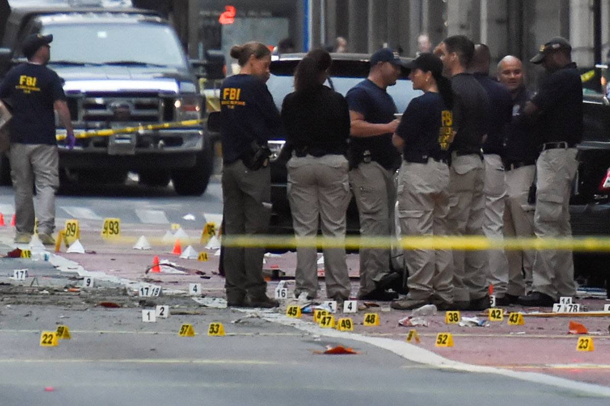
{"type": "MultiPolygon", "coordinates": [[[[536,162],[536,212],[534,232],[537,237],[570,237],[570,190],[578,169],[576,148],[547,149],[536,162]]],[[[536,252],[532,290],[559,299],[574,296],[572,251],[536,252]]]]}

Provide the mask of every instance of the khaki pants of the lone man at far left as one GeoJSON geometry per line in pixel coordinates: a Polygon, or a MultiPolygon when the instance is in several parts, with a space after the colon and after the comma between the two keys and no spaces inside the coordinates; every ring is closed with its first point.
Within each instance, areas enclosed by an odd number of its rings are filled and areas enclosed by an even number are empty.
{"type": "Polygon", "coordinates": [[[59,154],[56,145],[10,144],[10,176],[15,189],[15,226],[17,235],[51,235],[55,230],[55,192],[59,188],[59,154]],[[36,211],[34,194],[36,188],[36,211]],[[36,214],[37,215],[36,215],[36,214]]]}

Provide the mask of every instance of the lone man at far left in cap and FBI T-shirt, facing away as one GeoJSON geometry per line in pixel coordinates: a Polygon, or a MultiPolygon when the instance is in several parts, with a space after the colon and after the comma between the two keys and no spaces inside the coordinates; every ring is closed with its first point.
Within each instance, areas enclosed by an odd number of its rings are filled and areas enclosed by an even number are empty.
{"type": "Polygon", "coordinates": [[[11,69],[0,84],[0,98],[13,109],[10,122],[10,168],[15,188],[16,243],[29,243],[38,217],[38,236],[54,245],[55,191],[59,187],[59,155],[54,110],[66,129],[70,148],[76,142],[62,80],[45,65],[52,35],[32,34],[23,41],[27,63],[11,69]],[[32,186],[36,188],[34,213],[32,186]]]}

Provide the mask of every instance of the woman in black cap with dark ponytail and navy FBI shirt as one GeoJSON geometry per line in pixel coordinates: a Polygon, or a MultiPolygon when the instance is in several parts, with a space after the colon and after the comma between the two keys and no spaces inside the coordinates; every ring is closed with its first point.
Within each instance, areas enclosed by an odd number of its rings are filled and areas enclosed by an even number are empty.
{"type": "MultiPolygon", "coordinates": [[[[392,141],[403,152],[398,174],[398,215],[403,235],[447,235],[449,210],[449,148],[453,141],[453,93],[442,76],[443,63],[421,54],[411,63],[409,79],[424,94],[404,111],[392,141]]],[[[434,303],[453,305],[451,251],[405,250],[409,263],[409,294],[392,302],[402,310],[434,303]]]]}

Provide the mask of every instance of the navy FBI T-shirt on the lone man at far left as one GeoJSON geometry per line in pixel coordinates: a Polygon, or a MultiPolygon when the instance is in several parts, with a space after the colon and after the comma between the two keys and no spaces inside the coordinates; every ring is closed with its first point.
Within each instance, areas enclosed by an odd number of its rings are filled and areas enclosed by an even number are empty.
{"type": "Polygon", "coordinates": [[[13,109],[12,143],[57,144],[53,104],[66,95],[55,71],[35,63],[15,66],[0,84],[0,98],[10,98],[13,109]]]}

